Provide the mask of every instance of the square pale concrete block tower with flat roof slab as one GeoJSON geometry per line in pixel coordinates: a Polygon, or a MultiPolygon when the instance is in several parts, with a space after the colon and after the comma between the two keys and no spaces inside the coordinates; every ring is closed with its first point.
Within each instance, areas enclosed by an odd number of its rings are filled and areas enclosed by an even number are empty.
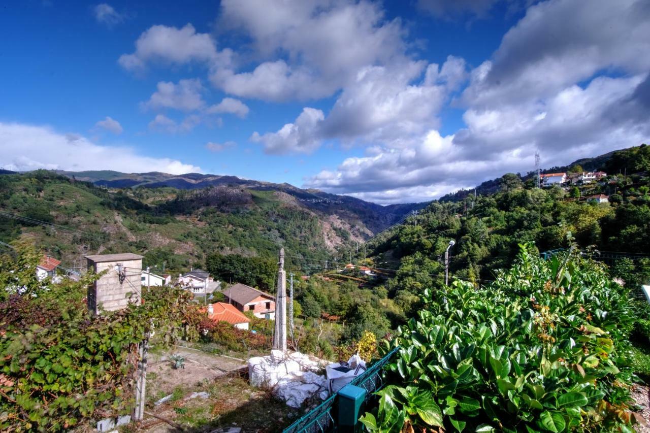
{"type": "Polygon", "coordinates": [[[88,287],[88,309],[98,315],[103,309],[115,311],[129,303],[140,303],[142,295],[142,256],[137,254],[97,254],[85,256],[88,270],[96,274],[107,270],[88,287]]]}

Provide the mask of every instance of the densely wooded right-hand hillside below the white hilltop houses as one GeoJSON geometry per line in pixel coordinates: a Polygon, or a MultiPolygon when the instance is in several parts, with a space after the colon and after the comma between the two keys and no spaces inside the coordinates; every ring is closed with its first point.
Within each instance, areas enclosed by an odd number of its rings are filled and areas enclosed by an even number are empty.
{"type": "Polygon", "coordinates": [[[495,194],[430,203],[365,245],[367,257],[363,250],[351,250],[352,261],[369,267],[372,277],[341,272],[346,261],[330,263],[337,269],[300,261],[300,269],[313,274],[298,285],[305,315],[318,317],[324,311],[343,317],[350,338],[363,329],[388,332],[419,311],[425,289],[443,287],[445,250],[452,240],[451,280],[476,286],[508,269],[525,243],[534,244],[538,253],[577,244],[584,255],[610,265],[612,276],[630,287],[650,281],[649,177],[608,176],[567,190],[538,189],[514,174],[494,183],[495,194]],[[586,199],[600,193],[608,194],[610,202],[586,199]]]}

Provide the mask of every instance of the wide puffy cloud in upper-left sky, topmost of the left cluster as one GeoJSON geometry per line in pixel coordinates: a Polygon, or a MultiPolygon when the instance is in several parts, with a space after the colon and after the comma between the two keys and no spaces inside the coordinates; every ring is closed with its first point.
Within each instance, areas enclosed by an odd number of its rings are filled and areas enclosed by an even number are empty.
{"type": "Polygon", "coordinates": [[[133,54],[123,54],[118,62],[126,70],[138,71],[147,62],[185,64],[189,62],[216,62],[226,60],[228,52],[218,53],[213,38],[207,33],[196,33],[191,24],[177,29],[154,25],[140,35],[133,54]]]}

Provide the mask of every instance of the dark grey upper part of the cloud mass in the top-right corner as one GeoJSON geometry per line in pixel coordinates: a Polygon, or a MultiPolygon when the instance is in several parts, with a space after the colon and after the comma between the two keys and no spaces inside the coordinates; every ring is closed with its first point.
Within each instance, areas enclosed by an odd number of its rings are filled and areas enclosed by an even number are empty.
{"type": "Polygon", "coordinates": [[[534,5],[482,64],[463,94],[468,105],[546,98],[613,70],[650,70],[650,6],[642,0],[551,0],[534,5]]]}

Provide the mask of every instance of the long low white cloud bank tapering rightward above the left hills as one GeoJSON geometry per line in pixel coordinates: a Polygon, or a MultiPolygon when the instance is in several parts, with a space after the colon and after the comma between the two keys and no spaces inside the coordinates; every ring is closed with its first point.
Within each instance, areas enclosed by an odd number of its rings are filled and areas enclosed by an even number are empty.
{"type": "Polygon", "coordinates": [[[79,135],[49,127],[0,123],[0,166],[9,170],[117,170],[120,172],[201,172],[192,164],[138,155],[124,146],[99,146],[79,135]]]}

